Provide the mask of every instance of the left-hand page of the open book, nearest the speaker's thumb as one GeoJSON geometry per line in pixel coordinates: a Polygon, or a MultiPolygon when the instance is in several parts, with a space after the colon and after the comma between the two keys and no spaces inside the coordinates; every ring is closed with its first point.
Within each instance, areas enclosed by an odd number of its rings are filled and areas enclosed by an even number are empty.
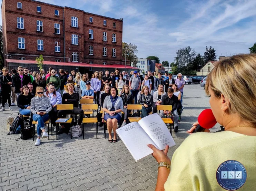
{"type": "Polygon", "coordinates": [[[120,127],[116,132],[136,162],[153,153],[147,144],[157,147],[137,122],[120,127]]]}

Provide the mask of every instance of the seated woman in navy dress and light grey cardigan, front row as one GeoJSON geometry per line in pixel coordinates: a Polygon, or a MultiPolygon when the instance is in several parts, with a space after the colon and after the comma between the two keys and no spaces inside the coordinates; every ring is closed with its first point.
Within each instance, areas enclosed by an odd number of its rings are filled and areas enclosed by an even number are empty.
{"type": "Polygon", "coordinates": [[[104,119],[107,121],[107,128],[109,142],[117,141],[117,122],[120,123],[122,116],[122,108],[124,107],[122,98],[118,96],[118,91],[115,86],[109,89],[109,96],[107,96],[103,103],[103,110],[105,112],[104,119]],[[114,138],[112,139],[112,129],[114,131],[114,138]]]}

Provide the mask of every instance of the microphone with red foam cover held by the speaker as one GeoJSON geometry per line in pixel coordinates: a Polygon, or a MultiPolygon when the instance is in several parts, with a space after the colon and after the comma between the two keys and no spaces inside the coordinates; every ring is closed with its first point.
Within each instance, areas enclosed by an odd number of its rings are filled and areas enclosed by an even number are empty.
{"type": "Polygon", "coordinates": [[[194,132],[201,132],[204,129],[213,128],[213,126],[216,125],[217,121],[213,115],[212,110],[205,109],[198,116],[198,123],[199,123],[199,125],[196,127],[194,132]]]}

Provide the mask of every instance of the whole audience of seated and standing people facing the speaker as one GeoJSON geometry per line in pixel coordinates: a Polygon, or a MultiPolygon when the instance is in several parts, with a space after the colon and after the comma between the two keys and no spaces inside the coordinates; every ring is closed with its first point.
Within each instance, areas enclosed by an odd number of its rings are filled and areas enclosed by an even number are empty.
{"type": "MultiPolygon", "coordinates": [[[[121,126],[129,122],[128,104],[140,104],[141,110],[138,110],[138,115],[141,118],[148,116],[151,113],[157,113],[157,105],[171,105],[172,110],[160,111],[159,115],[173,115],[174,131],[178,131],[178,111],[182,112],[182,93],[184,84],[172,79],[172,74],[166,75],[163,79],[159,73],[157,78],[150,71],[145,74],[144,79],[133,71],[130,76],[127,72],[119,73],[116,69],[115,73],[96,71],[89,80],[88,74],[76,73],[62,69],[59,70],[59,75],[53,67],[49,68],[47,74],[44,70],[35,72],[32,75],[25,73],[27,68],[19,66],[17,73],[13,74],[12,79],[8,74],[8,68],[3,68],[3,75],[0,76],[2,106],[8,100],[11,106],[11,86],[14,87],[14,93],[17,96],[17,105],[20,108],[19,113],[24,116],[32,115],[32,119],[37,121],[37,140],[35,145],[40,145],[41,137],[48,137],[48,129],[45,125],[47,120],[51,120],[54,131],[57,131],[56,120],[67,115],[78,115],[77,123],[81,127],[82,120],[90,115],[84,115],[81,109],[80,99],[93,99],[95,104],[100,107],[97,111],[101,111],[102,120],[99,126],[107,123],[109,133],[109,142],[117,141],[116,129],[118,124],[121,126]],[[2,77],[3,76],[3,77],[2,77]],[[8,76],[8,77],[7,77],[8,76]],[[141,92],[139,91],[141,89],[141,92]],[[179,90],[178,90],[179,89],[179,90]],[[4,94],[7,92],[8,94],[4,94]],[[57,110],[58,104],[72,104],[73,110],[57,110]],[[112,130],[114,136],[112,138],[112,130]]],[[[182,79],[182,78],[181,78],[182,79]]],[[[1,111],[2,111],[1,110],[1,111]]],[[[65,124],[60,124],[61,128],[58,134],[68,132],[65,124]]],[[[76,125],[75,120],[71,125],[76,125]]]]}

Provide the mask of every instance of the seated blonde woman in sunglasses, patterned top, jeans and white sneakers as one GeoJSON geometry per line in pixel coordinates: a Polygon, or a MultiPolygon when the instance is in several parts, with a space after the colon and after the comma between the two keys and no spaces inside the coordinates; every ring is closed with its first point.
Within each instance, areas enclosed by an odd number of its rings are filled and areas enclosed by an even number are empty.
{"type": "Polygon", "coordinates": [[[37,140],[35,145],[40,145],[41,134],[42,138],[47,138],[48,134],[45,132],[45,121],[49,119],[49,112],[52,109],[49,97],[43,95],[43,87],[36,88],[36,95],[31,99],[30,110],[33,114],[33,120],[38,121],[37,124],[37,140]]]}

